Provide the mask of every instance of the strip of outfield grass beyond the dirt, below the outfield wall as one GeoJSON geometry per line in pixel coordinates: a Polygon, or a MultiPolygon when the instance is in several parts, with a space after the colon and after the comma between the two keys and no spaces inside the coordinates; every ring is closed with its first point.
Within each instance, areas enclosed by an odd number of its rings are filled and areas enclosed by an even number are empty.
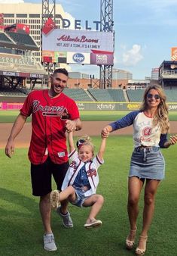
{"type": "MultiPolygon", "coordinates": [[[[128,113],[129,111],[80,111],[83,121],[113,121],[128,113]]],[[[19,111],[0,111],[0,123],[14,123],[18,114],[19,111]]],[[[177,111],[169,112],[169,120],[177,121],[177,111]]],[[[27,119],[27,122],[30,121],[31,117],[27,119]]]]}

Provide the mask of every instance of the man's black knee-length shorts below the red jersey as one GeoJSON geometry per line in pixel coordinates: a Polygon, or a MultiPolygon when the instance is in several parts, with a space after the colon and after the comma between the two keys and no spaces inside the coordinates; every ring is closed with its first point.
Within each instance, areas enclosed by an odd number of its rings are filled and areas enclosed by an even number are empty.
{"type": "Polygon", "coordinates": [[[52,176],[56,182],[57,189],[61,190],[69,162],[54,164],[50,158],[43,164],[31,164],[32,195],[47,195],[52,191],[52,176]]]}

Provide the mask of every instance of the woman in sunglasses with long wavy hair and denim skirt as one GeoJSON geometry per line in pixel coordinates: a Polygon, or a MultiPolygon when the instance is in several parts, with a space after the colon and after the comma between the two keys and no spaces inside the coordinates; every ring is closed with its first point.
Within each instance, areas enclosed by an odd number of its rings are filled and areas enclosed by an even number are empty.
{"type": "Polygon", "coordinates": [[[136,248],[137,255],[145,254],[148,229],[154,214],[154,201],[160,180],[164,178],[165,162],[160,148],[169,148],[177,142],[170,136],[166,95],[160,86],[148,86],[139,111],[127,114],[121,120],[110,123],[102,130],[102,138],[108,133],[133,124],[134,151],[130,162],[127,211],[130,233],[126,239],[127,249],[132,249],[136,238],[136,220],[139,214],[139,195],[145,183],[142,232],[136,248]]]}

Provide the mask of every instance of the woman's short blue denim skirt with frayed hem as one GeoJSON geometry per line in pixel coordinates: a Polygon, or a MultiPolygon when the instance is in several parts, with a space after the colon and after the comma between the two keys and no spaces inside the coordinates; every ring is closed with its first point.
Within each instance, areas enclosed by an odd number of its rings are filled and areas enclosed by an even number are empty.
{"type": "Polygon", "coordinates": [[[159,147],[135,148],[130,162],[129,177],[163,180],[165,161],[159,147]]]}

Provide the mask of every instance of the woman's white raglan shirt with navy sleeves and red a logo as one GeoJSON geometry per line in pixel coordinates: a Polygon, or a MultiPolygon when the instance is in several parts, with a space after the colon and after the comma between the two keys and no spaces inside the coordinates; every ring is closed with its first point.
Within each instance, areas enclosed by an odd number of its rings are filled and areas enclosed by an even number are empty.
{"type": "Polygon", "coordinates": [[[160,126],[153,126],[153,118],[147,117],[142,111],[132,111],[120,120],[109,125],[112,130],[118,130],[133,124],[134,146],[155,146],[163,148],[167,141],[167,134],[161,134],[160,126]]]}

